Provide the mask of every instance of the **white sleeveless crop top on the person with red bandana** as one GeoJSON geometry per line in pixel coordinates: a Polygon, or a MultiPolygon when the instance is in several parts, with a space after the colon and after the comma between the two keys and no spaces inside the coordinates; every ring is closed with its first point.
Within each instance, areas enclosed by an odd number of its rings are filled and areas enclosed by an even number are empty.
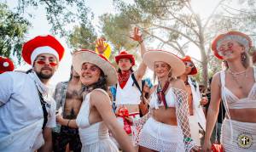
{"type": "MultiPolygon", "coordinates": [[[[138,82],[141,83],[141,82],[138,82]]],[[[128,81],[125,84],[124,88],[121,88],[119,86],[119,82],[117,84],[117,90],[116,90],[116,105],[119,104],[140,104],[141,102],[141,93],[136,87],[135,84],[133,84],[133,80],[131,76],[129,77],[128,81]]]]}

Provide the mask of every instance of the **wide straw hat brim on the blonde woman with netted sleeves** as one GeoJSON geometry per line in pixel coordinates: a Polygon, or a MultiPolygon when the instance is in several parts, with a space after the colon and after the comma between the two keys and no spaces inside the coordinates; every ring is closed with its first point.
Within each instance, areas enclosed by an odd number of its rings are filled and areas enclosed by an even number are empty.
{"type": "Polygon", "coordinates": [[[149,50],[143,55],[143,63],[148,66],[150,70],[154,71],[154,63],[157,61],[166,62],[172,67],[172,76],[177,77],[183,75],[185,72],[185,65],[173,53],[162,50],[149,50]]]}

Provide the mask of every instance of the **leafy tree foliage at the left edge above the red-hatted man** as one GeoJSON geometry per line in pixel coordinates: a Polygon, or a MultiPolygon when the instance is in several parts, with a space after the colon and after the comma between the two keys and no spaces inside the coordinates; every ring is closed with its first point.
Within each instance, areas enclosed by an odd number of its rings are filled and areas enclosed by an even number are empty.
{"type": "Polygon", "coordinates": [[[29,26],[28,20],[0,3],[0,55],[9,58],[16,56],[20,64],[21,48],[29,26]]]}

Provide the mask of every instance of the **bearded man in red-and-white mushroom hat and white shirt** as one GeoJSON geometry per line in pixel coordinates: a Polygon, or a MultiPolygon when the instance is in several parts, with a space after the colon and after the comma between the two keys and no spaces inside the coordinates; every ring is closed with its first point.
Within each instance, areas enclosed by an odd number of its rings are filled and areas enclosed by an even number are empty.
{"type": "Polygon", "coordinates": [[[55,101],[47,84],[63,53],[55,37],[34,37],[22,48],[22,57],[32,69],[0,75],[0,151],[51,151],[55,101]]]}

